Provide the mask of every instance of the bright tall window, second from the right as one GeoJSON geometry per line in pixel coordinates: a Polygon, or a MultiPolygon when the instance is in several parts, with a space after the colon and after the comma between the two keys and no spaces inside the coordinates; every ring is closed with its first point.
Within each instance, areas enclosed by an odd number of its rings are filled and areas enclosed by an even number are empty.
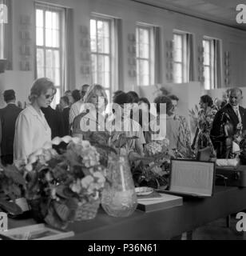
{"type": "Polygon", "coordinates": [[[173,80],[188,82],[187,34],[173,34],[173,80]]]}

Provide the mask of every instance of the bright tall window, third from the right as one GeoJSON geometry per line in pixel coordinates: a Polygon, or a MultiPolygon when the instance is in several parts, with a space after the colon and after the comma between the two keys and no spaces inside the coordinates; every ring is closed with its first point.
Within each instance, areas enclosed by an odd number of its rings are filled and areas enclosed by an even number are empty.
{"type": "Polygon", "coordinates": [[[153,84],[153,27],[137,25],[137,86],[153,84]]]}

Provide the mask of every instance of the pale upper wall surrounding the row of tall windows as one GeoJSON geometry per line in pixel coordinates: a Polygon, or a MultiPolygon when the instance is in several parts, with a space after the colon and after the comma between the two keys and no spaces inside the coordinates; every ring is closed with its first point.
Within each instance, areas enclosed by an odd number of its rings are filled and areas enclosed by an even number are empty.
{"type": "MultiPolygon", "coordinates": [[[[146,22],[161,27],[162,49],[161,59],[163,60],[163,72],[161,84],[166,84],[165,67],[165,42],[173,40],[173,29],[188,31],[195,35],[195,67],[197,66],[197,48],[202,42],[204,35],[220,38],[223,42],[224,51],[230,51],[232,56],[232,81],[229,86],[246,86],[246,32],[236,30],[227,26],[221,26],[216,23],[206,22],[201,19],[191,18],[183,14],[176,14],[170,11],[160,10],[151,6],[143,6],[136,2],[127,0],[47,0],[47,3],[54,3],[60,6],[66,6],[73,9],[74,12],[74,51],[75,51],[75,85],[69,85],[71,89],[79,87],[83,83],[90,82],[88,77],[81,74],[81,26],[89,28],[89,17],[92,12],[105,14],[122,19],[122,63],[123,63],[123,81],[124,90],[133,90],[136,87],[136,78],[129,76],[128,63],[128,35],[135,34],[136,22],[146,22]]],[[[34,80],[34,28],[31,30],[31,70],[30,72],[20,71],[19,62],[21,56],[19,48],[22,45],[19,37],[20,18],[22,15],[29,15],[31,24],[34,24],[34,0],[13,0],[13,67],[5,78],[5,84],[2,84],[1,90],[9,88],[20,91],[19,80],[25,78],[26,86],[30,87],[34,80]],[[12,72],[12,73],[11,73],[12,72]],[[10,80],[8,80],[10,79],[10,80]]],[[[195,78],[198,81],[197,68],[195,78]]],[[[224,78],[222,79],[224,81],[224,78]]],[[[117,87],[118,85],[116,85],[117,87]]],[[[224,85],[223,85],[224,86],[224,85]]],[[[139,90],[139,88],[137,88],[139,90]]],[[[18,99],[26,101],[26,94],[19,94],[18,99]]],[[[2,103],[1,103],[2,104],[2,103]]]]}

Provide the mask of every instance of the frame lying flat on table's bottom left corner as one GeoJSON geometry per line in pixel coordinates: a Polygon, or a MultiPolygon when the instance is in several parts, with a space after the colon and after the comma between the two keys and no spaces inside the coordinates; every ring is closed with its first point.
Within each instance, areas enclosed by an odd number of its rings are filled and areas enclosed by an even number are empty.
{"type": "Polygon", "coordinates": [[[73,237],[73,231],[55,230],[45,224],[23,226],[0,232],[2,239],[11,240],[59,240],[73,237]]]}

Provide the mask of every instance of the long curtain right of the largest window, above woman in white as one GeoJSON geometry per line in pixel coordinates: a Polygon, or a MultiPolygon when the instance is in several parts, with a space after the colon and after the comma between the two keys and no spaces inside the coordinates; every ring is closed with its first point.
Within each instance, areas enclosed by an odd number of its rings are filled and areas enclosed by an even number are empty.
{"type": "Polygon", "coordinates": [[[73,10],[65,9],[65,42],[63,59],[63,81],[64,90],[75,88],[75,63],[74,63],[74,33],[73,33],[73,10]]]}

